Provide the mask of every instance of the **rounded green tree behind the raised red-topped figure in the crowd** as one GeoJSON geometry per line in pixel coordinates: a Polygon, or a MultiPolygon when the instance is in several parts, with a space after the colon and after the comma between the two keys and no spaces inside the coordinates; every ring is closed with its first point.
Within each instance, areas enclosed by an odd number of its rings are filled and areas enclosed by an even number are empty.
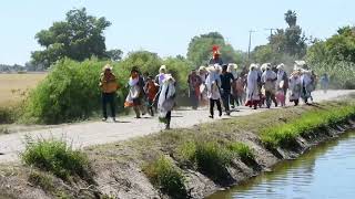
{"type": "Polygon", "coordinates": [[[219,32],[210,32],[194,36],[187,49],[187,60],[194,66],[205,65],[212,56],[212,46],[219,45],[222,59],[225,63],[241,63],[242,54],[236,52],[233,46],[225,42],[223,35],[219,32]]]}

